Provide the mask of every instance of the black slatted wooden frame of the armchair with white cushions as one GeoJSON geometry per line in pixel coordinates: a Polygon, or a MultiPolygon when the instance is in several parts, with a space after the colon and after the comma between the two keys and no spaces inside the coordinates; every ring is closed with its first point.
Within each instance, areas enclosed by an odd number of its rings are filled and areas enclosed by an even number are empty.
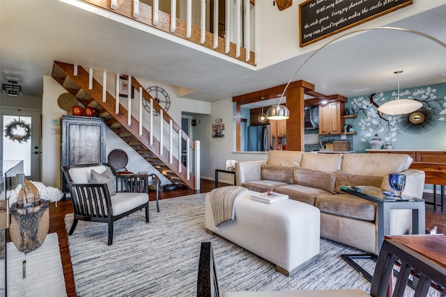
{"type": "Polygon", "coordinates": [[[68,235],[75,232],[77,222],[86,220],[89,222],[108,223],[108,245],[113,243],[113,223],[129,214],[145,209],[146,223],[149,222],[148,201],[144,204],[134,207],[129,211],[117,216],[113,215],[112,200],[107,184],[76,184],[72,181],[68,170],[71,168],[85,168],[92,166],[107,166],[116,177],[116,193],[147,193],[148,195],[148,175],[118,175],[116,170],[109,163],[91,163],[83,165],[63,166],[62,171],[65,175],[69,187],[71,202],[74,211],[74,220],[68,235]]]}

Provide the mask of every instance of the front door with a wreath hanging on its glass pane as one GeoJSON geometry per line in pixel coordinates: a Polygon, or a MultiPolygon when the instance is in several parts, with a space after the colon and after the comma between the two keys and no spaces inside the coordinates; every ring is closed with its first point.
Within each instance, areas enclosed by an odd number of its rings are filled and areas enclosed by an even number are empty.
{"type": "Polygon", "coordinates": [[[2,160],[23,160],[26,179],[40,182],[40,111],[2,108],[2,160]]]}

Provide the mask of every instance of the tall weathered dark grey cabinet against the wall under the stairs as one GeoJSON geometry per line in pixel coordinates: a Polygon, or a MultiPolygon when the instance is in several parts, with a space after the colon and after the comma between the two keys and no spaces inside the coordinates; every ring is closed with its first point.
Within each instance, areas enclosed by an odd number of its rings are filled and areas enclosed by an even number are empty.
{"type": "MultiPolygon", "coordinates": [[[[63,115],[61,119],[61,165],[106,162],[105,119],[63,115]]],[[[62,191],[68,193],[65,177],[62,191]]]]}

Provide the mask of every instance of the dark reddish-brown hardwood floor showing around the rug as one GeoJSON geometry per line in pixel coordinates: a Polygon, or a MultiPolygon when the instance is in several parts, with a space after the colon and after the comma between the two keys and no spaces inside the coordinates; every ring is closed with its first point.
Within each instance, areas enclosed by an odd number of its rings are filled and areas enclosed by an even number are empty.
{"type": "MultiPolygon", "coordinates": [[[[219,186],[227,186],[227,184],[219,184],[219,186]]],[[[176,198],[183,195],[191,195],[196,193],[207,193],[215,187],[213,181],[206,179],[201,179],[201,190],[200,191],[190,191],[187,189],[177,189],[172,191],[163,191],[160,189],[159,198],[176,198]]],[[[154,200],[154,192],[151,191],[151,201],[154,200]]],[[[433,200],[432,195],[426,195],[424,197],[426,202],[431,202],[433,200]]],[[[439,199],[438,199],[439,200],[439,199]]],[[[433,205],[426,204],[426,230],[431,230],[433,227],[438,227],[438,233],[446,234],[446,214],[441,213],[440,207],[437,207],[437,211],[433,211],[433,205]]],[[[76,296],[75,282],[72,275],[72,267],[70,260],[70,251],[68,250],[68,236],[65,228],[64,218],[66,214],[72,213],[71,202],[58,202],[57,207],[54,203],[50,206],[50,221],[49,221],[49,233],[57,232],[59,236],[59,247],[61,250],[61,259],[63,265],[63,274],[65,275],[66,289],[68,296],[76,296]]],[[[162,207],[160,207],[162,211],[162,207]]]]}

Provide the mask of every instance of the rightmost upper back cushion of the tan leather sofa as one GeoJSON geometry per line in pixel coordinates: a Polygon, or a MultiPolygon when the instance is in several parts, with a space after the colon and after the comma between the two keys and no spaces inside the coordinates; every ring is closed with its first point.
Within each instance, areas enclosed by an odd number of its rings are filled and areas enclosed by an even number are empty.
{"type": "Polygon", "coordinates": [[[344,154],[341,170],[354,175],[383,177],[407,170],[412,162],[408,154],[344,154]]]}

